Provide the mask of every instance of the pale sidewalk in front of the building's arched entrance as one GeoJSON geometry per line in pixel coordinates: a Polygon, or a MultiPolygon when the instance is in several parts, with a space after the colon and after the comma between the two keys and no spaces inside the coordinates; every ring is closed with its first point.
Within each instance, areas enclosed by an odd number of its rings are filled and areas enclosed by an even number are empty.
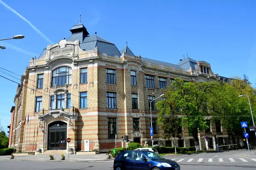
{"type": "Polygon", "coordinates": [[[113,161],[113,159],[106,159],[106,154],[96,154],[96,155],[70,155],[70,160],[68,160],[68,155],[65,154],[65,160],[61,160],[61,155],[53,155],[54,159],[49,160],[49,155],[16,155],[14,159],[10,159],[10,156],[0,156],[0,161],[113,161]]]}

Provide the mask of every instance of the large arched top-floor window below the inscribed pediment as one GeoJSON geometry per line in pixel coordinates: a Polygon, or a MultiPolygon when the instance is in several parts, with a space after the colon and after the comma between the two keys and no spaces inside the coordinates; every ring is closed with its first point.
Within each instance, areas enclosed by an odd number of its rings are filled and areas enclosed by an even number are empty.
{"type": "Polygon", "coordinates": [[[52,86],[71,85],[72,69],[69,67],[60,67],[52,72],[52,86]]]}

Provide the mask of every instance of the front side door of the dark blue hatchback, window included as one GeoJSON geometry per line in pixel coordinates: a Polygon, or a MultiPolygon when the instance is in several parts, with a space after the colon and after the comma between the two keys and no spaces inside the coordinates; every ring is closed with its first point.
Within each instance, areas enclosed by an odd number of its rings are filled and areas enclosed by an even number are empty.
{"type": "Polygon", "coordinates": [[[150,169],[149,168],[150,160],[145,156],[145,154],[143,152],[133,152],[132,155],[133,155],[133,159],[134,159],[134,162],[133,162],[134,170],[149,170],[150,169]],[[138,153],[141,154],[140,157],[138,156],[138,153]],[[147,160],[145,161],[142,159],[147,159],[147,160]]]}

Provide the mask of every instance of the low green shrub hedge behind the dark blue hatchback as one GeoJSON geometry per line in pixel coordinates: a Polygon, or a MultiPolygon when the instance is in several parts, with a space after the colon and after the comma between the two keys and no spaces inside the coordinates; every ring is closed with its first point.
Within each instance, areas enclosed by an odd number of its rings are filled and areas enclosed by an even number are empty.
{"type": "MultiPolygon", "coordinates": [[[[143,147],[143,146],[138,143],[130,143],[127,149],[135,150],[140,147],[143,147]]],[[[175,147],[155,146],[154,148],[158,151],[158,153],[175,153],[175,147]]],[[[123,151],[126,151],[126,148],[119,147],[119,148],[116,148],[116,154],[114,154],[112,149],[111,155],[113,156],[113,158],[115,158],[119,152],[123,152],[123,151]]],[[[192,152],[192,151],[195,151],[195,147],[176,147],[177,153],[186,153],[186,152],[192,152]]]]}

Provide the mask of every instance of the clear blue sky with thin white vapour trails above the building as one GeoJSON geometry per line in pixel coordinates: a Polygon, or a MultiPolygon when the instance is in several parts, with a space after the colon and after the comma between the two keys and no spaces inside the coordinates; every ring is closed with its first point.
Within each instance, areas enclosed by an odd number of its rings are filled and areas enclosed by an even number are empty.
{"type": "MultiPolygon", "coordinates": [[[[38,57],[50,42],[70,36],[69,30],[79,23],[81,11],[81,23],[87,31],[91,35],[97,31],[119,50],[127,41],[136,55],[174,64],[188,54],[209,62],[212,71],[221,76],[247,74],[253,85],[256,83],[255,0],[3,2],[35,26],[32,28],[0,3],[0,39],[25,35],[22,40],[0,41],[6,46],[6,50],[0,50],[0,67],[20,75],[29,59],[38,57]]],[[[0,78],[0,118],[6,131],[16,89],[17,84],[0,78]]]]}

